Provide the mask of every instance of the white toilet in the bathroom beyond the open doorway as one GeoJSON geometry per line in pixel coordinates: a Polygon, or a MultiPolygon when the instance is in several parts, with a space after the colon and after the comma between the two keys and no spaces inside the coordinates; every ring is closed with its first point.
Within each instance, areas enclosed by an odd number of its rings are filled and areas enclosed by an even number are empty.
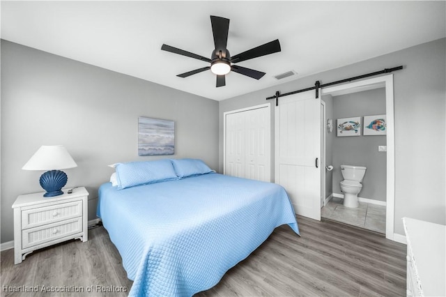
{"type": "Polygon", "coordinates": [[[341,191],[344,193],[344,206],[355,208],[359,205],[357,195],[362,189],[366,167],[355,165],[341,165],[344,181],[341,181],[341,191]]]}

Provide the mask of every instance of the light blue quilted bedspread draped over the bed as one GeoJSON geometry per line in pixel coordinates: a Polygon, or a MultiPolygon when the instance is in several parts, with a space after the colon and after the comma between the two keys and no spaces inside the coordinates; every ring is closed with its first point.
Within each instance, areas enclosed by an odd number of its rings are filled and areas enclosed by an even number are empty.
{"type": "Polygon", "coordinates": [[[210,289],[275,227],[299,234],[284,188],[204,174],[99,189],[98,216],[133,280],[129,296],[192,296],[210,289]]]}

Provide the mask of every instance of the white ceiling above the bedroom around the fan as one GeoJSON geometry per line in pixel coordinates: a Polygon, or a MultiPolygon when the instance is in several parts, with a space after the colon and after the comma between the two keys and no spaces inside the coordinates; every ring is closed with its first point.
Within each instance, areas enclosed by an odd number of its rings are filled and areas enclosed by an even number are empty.
{"type": "MultiPolygon", "coordinates": [[[[1,1],[1,38],[214,100],[446,36],[445,1],[1,1]],[[160,50],[166,43],[209,56],[210,15],[226,17],[234,56],[279,39],[282,52],[238,65],[215,87],[208,63],[160,50]],[[295,70],[277,81],[273,75],[295,70]]],[[[397,65],[389,65],[393,67],[397,65]]],[[[377,69],[381,70],[381,69],[377,69]]]]}

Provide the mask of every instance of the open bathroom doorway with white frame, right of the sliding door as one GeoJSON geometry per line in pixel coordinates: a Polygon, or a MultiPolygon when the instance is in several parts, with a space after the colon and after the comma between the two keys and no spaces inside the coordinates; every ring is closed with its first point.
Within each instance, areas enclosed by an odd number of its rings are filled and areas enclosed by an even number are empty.
{"type": "Polygon", "coordinates": [[[321,174],[321,217],[377,231],[393,239],[393,77],[385,75],[333,86],[323,89],[322,94],[321,154],[325,156],[325,174],[321,174]],[[385,133],[382,130],[370,133],[369,130],[376,130],[371,124],[374,117],[385,119],[385,133]],[[339,124],[358,120],[361,128],[357,135],[338,133],[339,124]],[[344,194],[339,185],[343,180],[341,165],[367,167],[357,195],[360,202],[357,208],[343,205],[344,194]]]}

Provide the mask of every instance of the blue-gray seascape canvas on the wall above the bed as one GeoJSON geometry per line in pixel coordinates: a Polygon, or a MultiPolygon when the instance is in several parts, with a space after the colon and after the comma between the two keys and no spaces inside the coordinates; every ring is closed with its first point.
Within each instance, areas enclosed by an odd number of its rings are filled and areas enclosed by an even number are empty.
{"type": "Polygon", "coordinates": [[[174,155],[175,122],[140,116],[138,155],[174,155]]]}

